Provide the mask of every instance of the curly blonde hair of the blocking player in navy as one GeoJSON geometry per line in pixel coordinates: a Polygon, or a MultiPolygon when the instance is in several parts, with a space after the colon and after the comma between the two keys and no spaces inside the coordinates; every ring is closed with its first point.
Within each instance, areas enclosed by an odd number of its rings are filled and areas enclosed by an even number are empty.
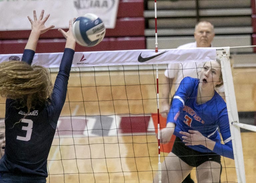
{"type": "Polygon", "coordinates": [[[44,105],[52,94],[50,72],[23,61],[0,63],[0,95],[17,101],[17,108],[44,105]]]}

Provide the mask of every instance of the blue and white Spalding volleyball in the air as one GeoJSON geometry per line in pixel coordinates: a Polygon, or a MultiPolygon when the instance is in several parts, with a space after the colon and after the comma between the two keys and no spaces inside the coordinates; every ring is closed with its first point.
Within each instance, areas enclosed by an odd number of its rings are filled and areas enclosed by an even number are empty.
{"type": "Polygon", "coordinates": [[[92,47],[103,40],[106,28],[97,15],[87,13],[75,20],[72,32],[79,45],[92,47]]]}

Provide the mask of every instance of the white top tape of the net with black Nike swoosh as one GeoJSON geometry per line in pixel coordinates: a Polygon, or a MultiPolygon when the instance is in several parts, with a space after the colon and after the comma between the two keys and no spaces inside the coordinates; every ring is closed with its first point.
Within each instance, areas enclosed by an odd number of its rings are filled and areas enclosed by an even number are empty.
{"type": "MultiPolygon", "coordinates": [[[[217,49],[219,50],[219,49],[217,49]]],[[[63,53],[35,54],[33,64],[47,68],[59,67],[63,53]]],[[[21,60],[22,54],[0,55],[0,62],[21,60]]],[[[166,64],[179,62],[207,62],[216,60],[216,48],[159,50],[121,50],[75,52],[72,67],[166,64]]]]}

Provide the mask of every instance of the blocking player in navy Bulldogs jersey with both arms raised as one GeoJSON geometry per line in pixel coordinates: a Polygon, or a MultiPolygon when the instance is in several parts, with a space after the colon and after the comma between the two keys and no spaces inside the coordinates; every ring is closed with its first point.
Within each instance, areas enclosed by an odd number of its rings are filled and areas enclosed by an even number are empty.
{"type": "Polygon", "coordinates": [[[31,33],[22,61],[0,64],[0,94],[6,97],[5,154],[0,160],[0,182],[46,182],[47,157],[57,121],[65,103],[69,73],[75,49],[72,23],[67,32],[59,72],[52,87],[48,69],[31,65],[40,34],[52,29],[44,24],[49,14],[42,10],[37,19],[34,11],[31,33]]]}

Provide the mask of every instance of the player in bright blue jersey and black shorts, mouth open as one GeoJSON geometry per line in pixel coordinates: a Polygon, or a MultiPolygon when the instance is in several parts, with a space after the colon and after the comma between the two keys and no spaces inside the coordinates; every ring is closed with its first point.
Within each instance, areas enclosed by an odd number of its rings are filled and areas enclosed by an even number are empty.
{"type": "Polygon", "coordinates": [[[161,165],[162,182],[182,182],[194,167],[199,183],[219,182],[220,155],[234,159],[226,103],[215,91],[222,84],[220,61],[206,62],[199,79],[181,81],[160,133],[162,143],[176,135],[161,165]]]}

